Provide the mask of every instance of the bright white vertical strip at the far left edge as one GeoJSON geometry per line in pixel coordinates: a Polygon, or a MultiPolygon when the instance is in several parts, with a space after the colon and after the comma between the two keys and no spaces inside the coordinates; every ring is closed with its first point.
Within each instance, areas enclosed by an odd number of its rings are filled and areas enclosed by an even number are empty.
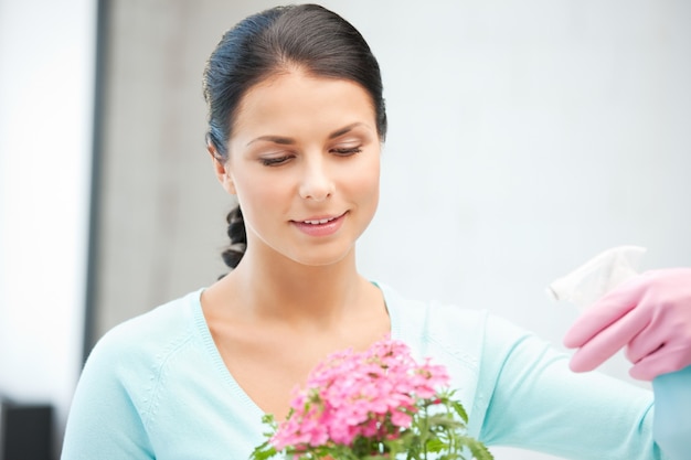
{"type": "Polygon", "coordinates": [[[59,426],[82,365],[95,24],[93,0],[0,0],[0,394],[59,426]]]}

